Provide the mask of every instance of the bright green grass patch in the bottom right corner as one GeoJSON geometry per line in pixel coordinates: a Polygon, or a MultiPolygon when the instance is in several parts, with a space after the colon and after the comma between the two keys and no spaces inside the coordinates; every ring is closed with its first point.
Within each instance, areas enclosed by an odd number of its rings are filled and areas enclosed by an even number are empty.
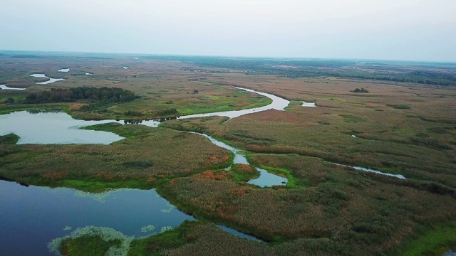
{"type": "Polygon", "coordinates": [[[402,255],[444,255],[448,250],[456,250],[456,222],[429,228],[420,238],[410,242],[402,255]]]}

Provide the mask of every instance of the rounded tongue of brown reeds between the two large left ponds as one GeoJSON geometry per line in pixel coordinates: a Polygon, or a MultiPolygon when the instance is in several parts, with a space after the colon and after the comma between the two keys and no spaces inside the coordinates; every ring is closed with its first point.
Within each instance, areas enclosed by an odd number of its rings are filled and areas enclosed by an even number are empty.
{"type": "Polygon", "coordinates": [[[111,145],[5,145],[0,176],[85,191],[150,188],[167,178],[227,167],[233,158],[197,134],[142,125],[103,124],[88,129],[115,132],[127,139],[111,145]]]}

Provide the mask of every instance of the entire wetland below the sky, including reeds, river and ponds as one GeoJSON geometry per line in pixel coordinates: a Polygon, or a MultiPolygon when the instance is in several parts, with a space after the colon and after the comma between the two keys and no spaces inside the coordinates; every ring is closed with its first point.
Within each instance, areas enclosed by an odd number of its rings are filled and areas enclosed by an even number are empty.
{"type": "Polygon", "coordinates": [[[0,56],[2,254],[455,250],[452,65],[110,57],[0,56]]]}

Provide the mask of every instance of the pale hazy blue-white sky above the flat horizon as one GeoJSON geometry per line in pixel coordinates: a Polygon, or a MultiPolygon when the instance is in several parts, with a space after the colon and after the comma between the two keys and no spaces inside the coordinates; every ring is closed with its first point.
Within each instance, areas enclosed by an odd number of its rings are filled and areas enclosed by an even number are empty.
{"type": "Polygon", "coordinates": [[[456,61],[456,0],[0,0],[0,49],[456,61]]]}

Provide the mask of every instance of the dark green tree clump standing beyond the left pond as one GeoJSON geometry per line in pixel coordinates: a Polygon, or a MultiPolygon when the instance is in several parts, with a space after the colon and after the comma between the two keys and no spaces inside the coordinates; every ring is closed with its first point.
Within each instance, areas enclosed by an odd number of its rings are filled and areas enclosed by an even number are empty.
{"type": "Polygon", "coordinates": [[[75,102],[93,100],[95,102],[117,103],[135,100],[135,93],[130,90],[109,87],[76,87],[69,89],[51,89],[31,93],[26,96],[26,103],[75,102]]]}

